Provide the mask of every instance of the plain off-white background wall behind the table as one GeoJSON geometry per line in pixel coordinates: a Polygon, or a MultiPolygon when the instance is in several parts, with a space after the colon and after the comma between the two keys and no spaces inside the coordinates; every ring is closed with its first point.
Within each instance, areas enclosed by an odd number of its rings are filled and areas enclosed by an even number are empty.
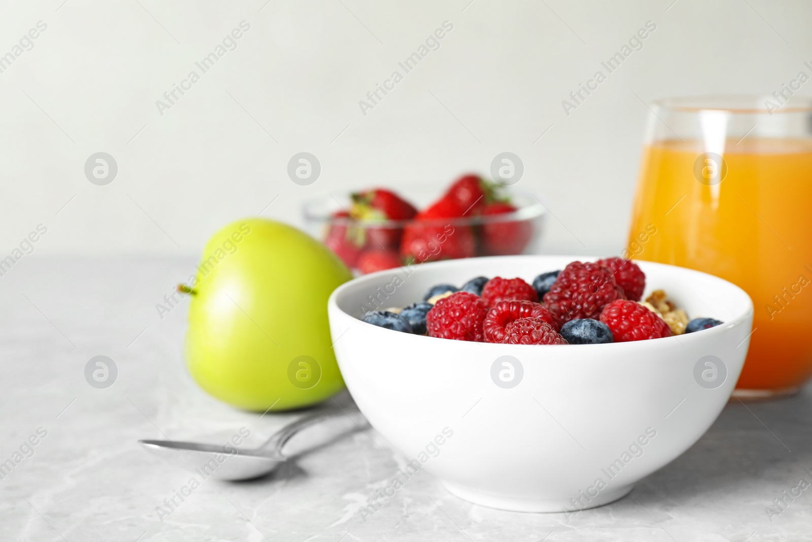
{"type": "Polygon", "coordinates": [[[812,60],[810,2],[672,1],[5,2],[0,54],[47,29],[0,73],[2,254],[38,223],[37,254],[197,254],[274,197],[263,215],[300,223],[318,193],[446,182],[505,150],[525,163],[517,188],[559,219],[545,252],[617,252],[641,100],[771,93],[812,60]],[[241,20],[237,49],[160,115],[156,100],[241,20]],[[445,20],[440,49],[362,115],[358,101],[445,20]],[[561,101],[648,20],[644,48],[565,115],[561,101]],[[119,165],[106,186],[84,176],[97,151],[119,165]],[[300,151],[322,163],[311,186],[287,177],[300,151]]]}

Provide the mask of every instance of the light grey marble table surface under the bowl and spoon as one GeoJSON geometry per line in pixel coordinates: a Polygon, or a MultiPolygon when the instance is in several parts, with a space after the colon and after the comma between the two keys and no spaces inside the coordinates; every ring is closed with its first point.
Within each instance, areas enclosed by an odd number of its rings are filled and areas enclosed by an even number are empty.
{"type": "Polygon", "coordinates": [[[169,509],[191,475],[137,439],[217,443],[247,427],[251,445],[300,415],[240,412],[192,382],[185,301],[156,305],[193,264],[32,255],[0,276],[0,463],[13,463],[0,479],[0,540],[812,540],[812,491],[766,511],[812,482],[810,387],[732,401],[629,496],[572,518],[472,505],[422,471],[362,517],[402,458],[373,429],[348,427],[303,435],[292,443],[302,454],[272,476],[205,479],[169,509]],[[97,355],[116,364],[109,388],[84,377],[97,355]]]}

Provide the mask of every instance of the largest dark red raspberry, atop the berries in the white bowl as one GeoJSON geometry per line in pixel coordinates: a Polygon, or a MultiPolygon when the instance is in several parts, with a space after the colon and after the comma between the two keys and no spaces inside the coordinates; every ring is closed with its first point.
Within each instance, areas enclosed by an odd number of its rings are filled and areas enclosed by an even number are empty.
{"type": "Polygon", "coordinates": [[[598,319],[603,307],[615,299],[625,296],[607,267],[572,262],[544,294],[544,305],[564,324],[574,319],[598,319]]]}

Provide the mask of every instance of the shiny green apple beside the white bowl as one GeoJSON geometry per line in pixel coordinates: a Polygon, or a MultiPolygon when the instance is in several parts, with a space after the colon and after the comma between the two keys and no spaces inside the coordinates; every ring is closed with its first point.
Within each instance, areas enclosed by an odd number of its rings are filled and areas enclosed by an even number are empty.
{"type": "Polygon", "coordinates": [[[209,240],[193,284],[186,336],[192,377],[245,410],[293,409],[343,388],[327,298],[350,271],[304,232],[265,219],[209,240]]]}

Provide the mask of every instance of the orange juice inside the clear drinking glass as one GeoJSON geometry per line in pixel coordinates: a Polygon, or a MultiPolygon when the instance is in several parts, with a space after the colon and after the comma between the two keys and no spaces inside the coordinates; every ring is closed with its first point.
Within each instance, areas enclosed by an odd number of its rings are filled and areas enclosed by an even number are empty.
{"type": "Polygon", "coordinates": [[[702,152],[698,141],[646,145],[629,256],[743,288],[755,318],[737,388],[793,392],[812,374],[812,141],[728,139],[723,163],[702,152]]]}

